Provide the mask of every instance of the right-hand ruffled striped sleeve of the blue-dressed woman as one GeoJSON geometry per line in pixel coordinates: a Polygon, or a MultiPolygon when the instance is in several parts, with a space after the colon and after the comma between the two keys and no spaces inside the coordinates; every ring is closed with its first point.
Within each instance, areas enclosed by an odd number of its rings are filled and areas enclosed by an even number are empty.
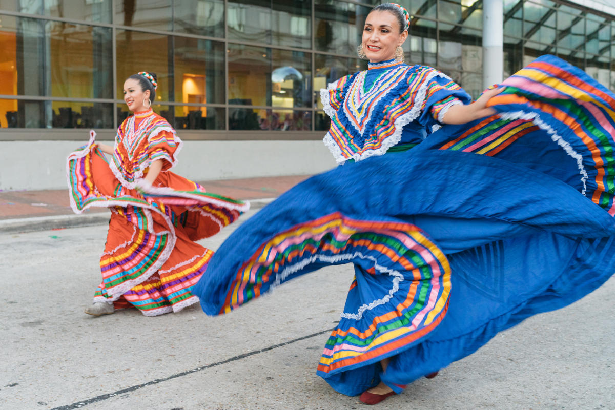
{"type": "Polygon", "coordinates": [[[469,104],[471,101],[472,97],[464,89],[450,77],[438,72],[438,75],[429,79],[418,122],[427,128],[427,133],[432,133],[443,124],[442,119],[449,108],[457,104],[469,104]]]}

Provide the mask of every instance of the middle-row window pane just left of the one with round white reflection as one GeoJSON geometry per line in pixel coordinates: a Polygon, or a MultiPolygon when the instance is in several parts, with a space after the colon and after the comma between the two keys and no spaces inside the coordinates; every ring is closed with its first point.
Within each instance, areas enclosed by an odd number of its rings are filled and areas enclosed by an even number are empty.
{"type": "Polygon", "coordinates": [[[241,44],[228,47],[229,104],[270,106],[271,49],[241,44]]]}

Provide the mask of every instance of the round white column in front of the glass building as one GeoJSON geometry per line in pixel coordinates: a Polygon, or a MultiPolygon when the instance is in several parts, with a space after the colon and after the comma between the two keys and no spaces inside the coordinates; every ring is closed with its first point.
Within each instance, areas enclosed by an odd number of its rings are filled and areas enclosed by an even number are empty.
{"type": "Polygon", "coordinates": [[[483,0],[483,87],[502,82],[504,73],[504,3],[483,0]]]}

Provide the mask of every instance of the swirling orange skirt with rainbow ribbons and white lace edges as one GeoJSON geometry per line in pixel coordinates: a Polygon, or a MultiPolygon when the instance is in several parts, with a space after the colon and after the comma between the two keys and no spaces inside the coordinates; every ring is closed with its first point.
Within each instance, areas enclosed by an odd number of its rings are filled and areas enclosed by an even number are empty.
{"type": "Polygon", "coordinates": [[[213,255],[196,240],[210,237],[248,209],[242,201],[210,194],[197,183],[163,171],[145,191],[122,184],[94,142],[68,157],[73,210],[111,208],[102,282],[95,302],[144,315],[177,312],[198,298],[191,293],[213,255]]]}

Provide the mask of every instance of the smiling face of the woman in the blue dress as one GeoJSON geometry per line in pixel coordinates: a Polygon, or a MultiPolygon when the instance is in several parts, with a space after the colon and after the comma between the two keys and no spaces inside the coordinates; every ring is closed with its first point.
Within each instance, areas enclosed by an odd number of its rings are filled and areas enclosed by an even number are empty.
{"type": "Polygon", "coordinates": [[[375,10],[367,15],[363,28],[363,52],[371,63],[391,60],[395,49],[408,37],[408,31],[400,33],[399,20],[386,10],[375,10]]]}

